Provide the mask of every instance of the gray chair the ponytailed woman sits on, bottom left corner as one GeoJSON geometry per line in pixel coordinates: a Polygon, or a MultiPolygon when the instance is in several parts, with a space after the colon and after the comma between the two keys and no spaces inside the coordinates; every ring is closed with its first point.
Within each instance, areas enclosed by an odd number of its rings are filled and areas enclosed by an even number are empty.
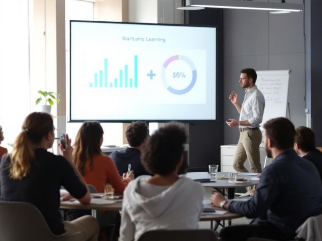
{"type": "Polygon", "coordinates": [[[54,235],[32,204],[0,201],[0,240],[85,241],[85,236],[83,232],[54,235]]]}

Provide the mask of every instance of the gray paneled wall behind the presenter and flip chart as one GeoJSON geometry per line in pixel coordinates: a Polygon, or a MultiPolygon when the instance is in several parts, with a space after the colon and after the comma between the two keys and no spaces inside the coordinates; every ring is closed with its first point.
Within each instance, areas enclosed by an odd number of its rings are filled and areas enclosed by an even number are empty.
{"type": "MultiPolygon", "coordinates": [[[[224,120],[239,118],[228,96],[234,90],[242,103],[245,92],[238,82],[242,68],[290,69],[290,118],[296,127],[306,125],[303,24],[303,12],[269,14],[268,11],[224,10],[224,120]]],[[[236,127],[224,124],[225,144],[236,144],[238,137],[236,127]]]]}

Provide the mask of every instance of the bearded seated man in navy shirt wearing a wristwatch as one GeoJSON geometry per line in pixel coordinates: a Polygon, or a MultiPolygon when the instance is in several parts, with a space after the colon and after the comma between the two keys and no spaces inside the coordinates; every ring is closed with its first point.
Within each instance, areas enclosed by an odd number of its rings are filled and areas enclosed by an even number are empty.
{"type": "Polygon", "coordinates": [[[223,228],[220,237],[246,240],[260,237],[292,240],[295,230],[309,217],[321,212],[322,184],[317,168],[294,151],[295,128],[286,118],[264,124],[264,145],[274,160],[264,168],[254,196],[248,201],[232,201],[215,193],[211,203],[230,212],[256,218],[267,212],[268,220],[256,225],[223,228]]]}

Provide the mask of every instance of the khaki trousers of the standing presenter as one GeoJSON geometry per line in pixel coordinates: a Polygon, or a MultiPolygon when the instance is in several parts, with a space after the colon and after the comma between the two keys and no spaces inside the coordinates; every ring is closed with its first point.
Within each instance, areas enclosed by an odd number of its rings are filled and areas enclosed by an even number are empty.
{"type": "MultiPolygon", "coordinates": [[[[262,134],[260,129],[249,129],[239,133],[239,140],[235,152],[234,161],[232,167],[237,172],[249,172],[244,163],[248,159],[251,167],[251,172],[261,173],[260,165],[260,142],[262,134]]],[[[247,187],[250,191],[252,187],[247,187]]]]}

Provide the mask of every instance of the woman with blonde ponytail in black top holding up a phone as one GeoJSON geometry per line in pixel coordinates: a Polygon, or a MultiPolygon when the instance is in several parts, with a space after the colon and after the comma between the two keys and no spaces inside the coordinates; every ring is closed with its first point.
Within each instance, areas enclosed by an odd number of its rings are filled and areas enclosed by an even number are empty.
{"type": "Polygon", "coordinates": [[[82,204],[90,203],[90,192],[72,162],[68,135],[65,136],[65,149],[60,145],[62,156],[47,152],[55,139],[54,129],[52,117],[47,113],[33,112],[26,117],[12,153],[1,160],[0,200],[32,203],[55,235],[82,231],[86,240],[96,241],[99,225],[95,218],[84,216],[71,222],[62,221],[59,212],[61,185],[82,204]]]}

